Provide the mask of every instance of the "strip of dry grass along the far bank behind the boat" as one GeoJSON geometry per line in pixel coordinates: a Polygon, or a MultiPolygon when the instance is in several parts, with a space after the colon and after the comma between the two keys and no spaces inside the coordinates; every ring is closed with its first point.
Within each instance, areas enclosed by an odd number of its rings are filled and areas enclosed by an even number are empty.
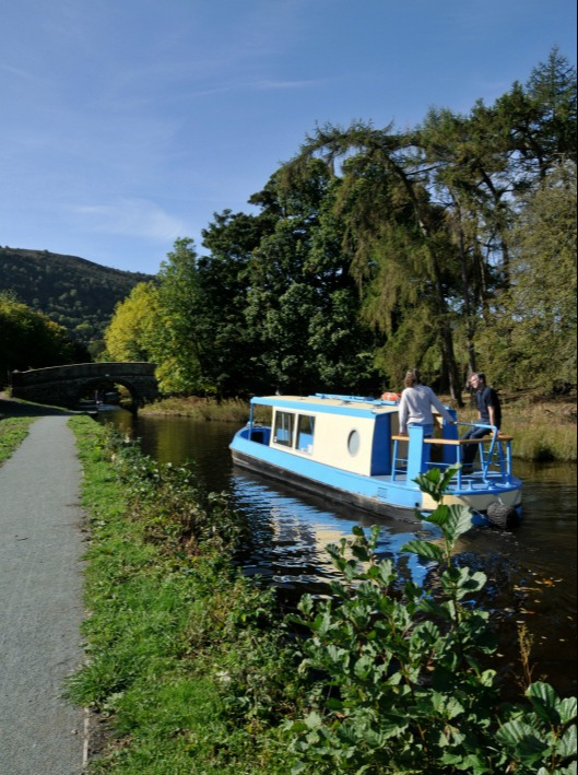
{"type": "MultiPolygon", "coordinates": [[[[473,421],[475,411],[464,396],[464,409],[459,419],[473,421]]],[[[447,397],[445,398],[447,400],[447,397]]],[[[450,403],[448,401],[448,403],[450,403]]],[[[529,461],[559,460],[575,462],[577,459],[576,403],[570,401],[533,401],[526,397],[504,399],[504,425],[506,434],[514,436],[512,451],[516,458],[529,461]]],[[[249,407],[241,399],[221,402],[209,398],[166,398],[144,407],[143,414],[176,414],[196,420],[221,420],[239,425],[247,422],[249,407]]],[[[257,407],[258,422],[267,421],[267,410],[257,407]]]]}

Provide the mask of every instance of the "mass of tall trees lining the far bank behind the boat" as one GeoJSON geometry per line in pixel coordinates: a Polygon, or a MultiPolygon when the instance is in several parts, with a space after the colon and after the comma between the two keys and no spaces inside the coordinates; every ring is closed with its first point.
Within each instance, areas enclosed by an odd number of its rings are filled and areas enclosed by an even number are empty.
{"type": "MultiPolygon", "coordinates": [[[[369,392],[410,366],[458,406],[479,368],[575,390],[575,164],[576,72],[557,49],[468,115],[317,127],[255,214],[215,213],[204,250],[175,243],[155,336],[132,354],[173,392],[369,392]]],[[[109,339],[130,340],[127,315],[109,339]]]]}

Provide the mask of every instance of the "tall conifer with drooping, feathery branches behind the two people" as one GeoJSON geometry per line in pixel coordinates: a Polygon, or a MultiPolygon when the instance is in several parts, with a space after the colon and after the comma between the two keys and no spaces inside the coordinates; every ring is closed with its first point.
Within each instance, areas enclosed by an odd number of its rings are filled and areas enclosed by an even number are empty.
{"type": "Polygon", "coordinates": [[[424,186],[421,164],[412,160],[413,142],[409,136],[392,133],[391,127],[376,130],[357,122],[343,130],[328,126],[307,139],[291,164],[298,171],[319,154],[330,168],[342,161],[343,185],[335,212],[344,221],[364,319],[387,334],[381,363],[399,381],[409,365],[392,355],[401,339],[404,350],[409,339],[412,352],[421,355],[416,365],[423,365],[434,348],[440,387],[449,389],[460,404],[450,304],[456,251],[443,211],[424,186]]]}

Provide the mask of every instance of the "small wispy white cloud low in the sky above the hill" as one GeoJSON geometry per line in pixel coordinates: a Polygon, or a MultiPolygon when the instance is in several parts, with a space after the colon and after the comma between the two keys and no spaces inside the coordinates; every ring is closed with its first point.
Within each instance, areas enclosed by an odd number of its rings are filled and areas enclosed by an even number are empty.
{"type": "Polygon", "coordinates": [[[160,242],[173,242],[187,233],[184,221],[146,199],[121,198],[111,204],[85,204],[74,210],[92,232],[160,242]]]}

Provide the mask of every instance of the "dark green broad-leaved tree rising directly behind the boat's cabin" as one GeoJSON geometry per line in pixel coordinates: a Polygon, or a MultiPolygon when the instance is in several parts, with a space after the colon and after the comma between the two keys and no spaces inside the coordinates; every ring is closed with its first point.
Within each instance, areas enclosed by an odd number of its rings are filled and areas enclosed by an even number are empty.
{"type": "Polygon", "coordinates": [[[343,224],[333,212],[339,181],[312,160],[282,168],[251,198],[276,219],[249,266],[246,317],[257,363],[284,391],[376,389],[375,339],[358,317],[343,224]]]}

